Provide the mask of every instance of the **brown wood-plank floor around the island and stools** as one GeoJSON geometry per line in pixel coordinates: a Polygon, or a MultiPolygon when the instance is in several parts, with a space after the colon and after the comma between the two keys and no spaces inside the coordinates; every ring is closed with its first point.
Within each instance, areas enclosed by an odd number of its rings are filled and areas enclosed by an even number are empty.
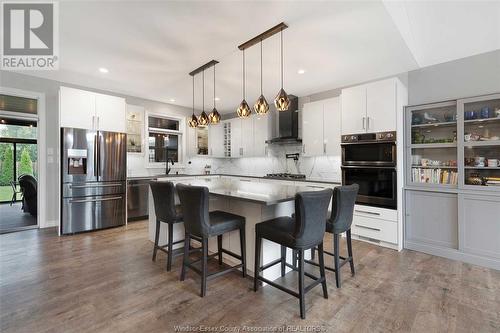
{"type": "MultiPolygon", "coordinates": [[[[163,253],[151,261],[146,228],[138,222],[66,237],[54,229],[1,235],[0,331],[173,332],[175,325],[500,331],[499,271],[353,241],[356,276],[344,266],[337,289],[327,272],[329,299],[320,286],[313,289],[301,320],[297,299],[272,287],[254,293],[238,273],[210,281],[200,298],[196,274],[179,281],[180,258],[168,273],[163,253]]],[[[325,247],[331,250],[331,238],[325,247]]],[[[282,282],[296,286],[294,274],[282,282]]]]}

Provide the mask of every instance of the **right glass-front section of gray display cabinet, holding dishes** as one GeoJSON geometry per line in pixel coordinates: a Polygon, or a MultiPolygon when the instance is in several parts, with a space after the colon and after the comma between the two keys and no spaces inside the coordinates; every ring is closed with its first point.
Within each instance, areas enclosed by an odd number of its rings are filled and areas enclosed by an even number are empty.
{"type": "Polygon", "coordinates": [[[461,99],[458,112],[463,144],[461,185],[500,190],[500,94],[461,99]]]}

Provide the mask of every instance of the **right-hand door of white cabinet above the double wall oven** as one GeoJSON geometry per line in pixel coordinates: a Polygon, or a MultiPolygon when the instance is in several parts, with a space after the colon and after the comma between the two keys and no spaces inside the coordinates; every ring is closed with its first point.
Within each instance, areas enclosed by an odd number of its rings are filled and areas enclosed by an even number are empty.
{"type": "Polygon", "coordinates": [[[396,130],[396,87],[396,79],[366,85],[367,132],[396,130]]]}

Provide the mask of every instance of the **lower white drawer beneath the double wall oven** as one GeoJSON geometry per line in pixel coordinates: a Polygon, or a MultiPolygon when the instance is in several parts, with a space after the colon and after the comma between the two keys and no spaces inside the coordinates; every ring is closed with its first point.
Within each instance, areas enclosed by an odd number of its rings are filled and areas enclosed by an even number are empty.
{"type": "Polygon", "coordinates": [[[358,236],[397,244],[398,224],[376,218],[354,216],[351,232],[358,236]]]}

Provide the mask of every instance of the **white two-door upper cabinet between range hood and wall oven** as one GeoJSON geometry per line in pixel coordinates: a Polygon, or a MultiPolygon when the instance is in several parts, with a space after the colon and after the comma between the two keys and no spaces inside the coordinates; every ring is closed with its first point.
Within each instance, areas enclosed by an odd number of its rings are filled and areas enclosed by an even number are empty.
{"type": "Polygon", "coordinates": [[[340,155],[340,97],[306,103],[302,112],[304,156],[340,155]]]}

